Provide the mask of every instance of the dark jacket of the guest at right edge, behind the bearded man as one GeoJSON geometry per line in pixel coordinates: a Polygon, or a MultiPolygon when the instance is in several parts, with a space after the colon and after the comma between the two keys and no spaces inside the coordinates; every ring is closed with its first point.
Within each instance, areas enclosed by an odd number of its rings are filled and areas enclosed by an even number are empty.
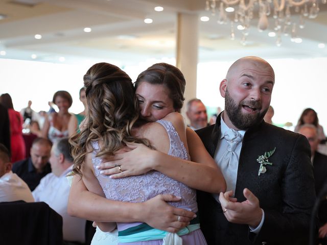
{"type": "MultiPolygon", "coordinates": [[[[316,194],[327,184],[327,156],[315,152],[313,157],[313,174],[315,177],[316,194]]],[[[327,194],[327,193],[326,193],[327,194]]],[[[327,200],[320,204],[319,208],[320,225],[327,223],[327,200]]]]}

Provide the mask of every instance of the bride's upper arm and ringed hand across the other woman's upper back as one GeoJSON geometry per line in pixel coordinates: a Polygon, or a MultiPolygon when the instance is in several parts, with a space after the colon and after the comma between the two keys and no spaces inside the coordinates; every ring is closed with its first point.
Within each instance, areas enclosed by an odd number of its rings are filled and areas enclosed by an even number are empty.
{"type": "MultiPolygon", "coordinates": [[[[169,119],[173,122],[176,131],[180,133],[182,130],[181,124],[184,124],[184,122],[176,114],[169,114],[168,116],[174,117],[169,119]]],[[[181,117],[180,114],[179,116],[181,117]]],[[[187,145],[192,161],[173,157],[151,150],[143,144],[135,143],[128,145],[132,149],[131,151],[117,153],[110,159],[111,161],[103,162],[100,165],[100,168],[103,169],[102,174],[111,175],[111,178],[115,179],[157,170],[195,189],[211,193],[225,192],[225,179],[214,159],[206,151],[199,136],[189,128],[186,130],[184,128],[184,132],[186,132],[184,135],[187,136],[187,145]],[[115,166],[121,166],[123,171],[121,172],[115,166]]],[[[181,133],[181,139],[183,138],[182,135],[181,133]]]]}

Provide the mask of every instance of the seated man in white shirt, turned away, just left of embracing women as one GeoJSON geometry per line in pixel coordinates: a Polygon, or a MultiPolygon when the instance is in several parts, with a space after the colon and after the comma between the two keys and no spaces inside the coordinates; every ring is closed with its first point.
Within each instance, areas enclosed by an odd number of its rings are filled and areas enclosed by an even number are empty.
{"type": "Polygon", "coordinates": [[[68,195],[71,187],[66,175],[72,171],[73,161],[67,138],[54,143],[50,157],[52,173],[40,181],[33,191],[33,197],[36,202],[45,202],[62,216],[65,241],[84,242],[86,220],[67,214],[68,195]]]}

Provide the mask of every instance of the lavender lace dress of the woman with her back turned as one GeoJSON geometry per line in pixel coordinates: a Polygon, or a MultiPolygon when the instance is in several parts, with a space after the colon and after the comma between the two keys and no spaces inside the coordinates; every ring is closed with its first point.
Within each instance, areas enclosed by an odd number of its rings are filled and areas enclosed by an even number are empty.
{"type": "MultiPolygon", "coordinates": [[[[170,138],[169,155],[179,157],[182,159],[189,159],[189,154],[186,151],[183,142],[180,140],[178,133],[171,122],[165,120],[158,120],[162,126],[167,130],[170,138]]],[[[93,143],[95,151],[99,151],[98,142],[93,143]]],[[[92,158],[92,163],[95,168],[95,174],[99,180],[100,185],[106,195],[107,199],[141,203],[158,194],[173,194],[182,198],[180,202],[171,202],[170,205],[178,208],[183,208],[197,212],[196,192],[194,189],[173,180],[158,171],[149,171],[144,175],[131,176],[122,179],[110,179],[109,176],[100,174],[100,170],[96,168],[101,162],[100,158],[92,158]]],[[[137,227],[142,223],[117,223],[118,231],[126,231],[128,228],[137,227]]],[[[202,245],[206,244],[203,234],[200,229],[190,232],[189,234],[181,236],[184,245],[202,245]]],[[[119,244],[120,239],[119,239],[119,244]]],[[[134,241],[128,242],[130,245],[161,245],[162,239],[148,240],[148,241],[134,241]]]]}

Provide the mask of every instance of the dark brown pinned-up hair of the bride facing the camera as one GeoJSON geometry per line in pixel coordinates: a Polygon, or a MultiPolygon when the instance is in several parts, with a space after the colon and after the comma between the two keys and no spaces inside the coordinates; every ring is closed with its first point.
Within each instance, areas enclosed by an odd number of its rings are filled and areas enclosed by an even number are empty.
{"type": "Polygon", "coordinates": [[[138,75],[135,90],[142,82],[164,85],[168,88],[168,96],[173,101],[174,109],[180,112],[184,103],[185,78],[175,66],[167,63],[157,63],[138,75]]]}

